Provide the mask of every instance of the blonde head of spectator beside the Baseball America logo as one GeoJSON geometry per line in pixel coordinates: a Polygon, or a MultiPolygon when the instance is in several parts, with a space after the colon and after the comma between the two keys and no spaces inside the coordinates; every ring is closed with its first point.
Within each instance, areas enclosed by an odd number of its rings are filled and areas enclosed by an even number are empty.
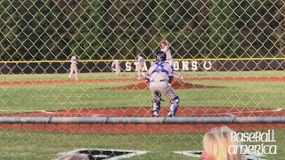
{"type": "Polygon", "coordinates": [[[203,160],[245,160],[245,156],[240,152],[240,142],[232,141],[231,132],[229,127],[222,126],[214,128],[207,132],[203,139],[203,152],[201,159],[203,160]],[[233,153],[231,145],[236,146],[236,154],[233,153]]]}

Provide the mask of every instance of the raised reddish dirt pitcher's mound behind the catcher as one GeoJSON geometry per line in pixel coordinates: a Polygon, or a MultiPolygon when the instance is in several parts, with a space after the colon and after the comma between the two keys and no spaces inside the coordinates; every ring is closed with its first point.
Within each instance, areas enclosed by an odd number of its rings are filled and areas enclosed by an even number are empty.
{"type": "MultiPolygon", "coordinates": [[[[199,85],[199,84],[189,84],[180,81],[175,81],[172,85],[174,89],[208,89],[208,88],[220,88],[219,86],[208,86],[208,85],[199,85]]],[[[112,87],[112,89],[117,90],[145,90],[148,89],[148,84],[139,83],[139,84],[130,84],[118,87],[112,87]]]]}

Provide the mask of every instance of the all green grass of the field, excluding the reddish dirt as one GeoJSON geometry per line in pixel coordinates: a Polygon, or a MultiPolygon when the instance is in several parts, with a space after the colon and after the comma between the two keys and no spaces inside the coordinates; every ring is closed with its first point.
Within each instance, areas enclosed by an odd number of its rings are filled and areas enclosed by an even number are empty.
{"type": "MultiPolygon", "coordinates": [[[[122,73],[120,78],[136,78],[135,73],[122,73]]],[[[184,77],[248,77],[285,76],[285,71],[265,72],[183,72],[184,77]]],[[[58,75],[2,75],[1,82],[66,80],[58,75]]],[[[110,73],[80,74],[80,79],[117,78],[110,73]]],[[[0,87],[0,115],[37,110],[81,108],[151,107],[148,90],[110,90],[108,87],[136,84],[116,82],[104,84],[54,84],[0,87]]],[[[283,82],[187,81],[192,84],[222,86],[216,89],[176,90],[181,107],[216,108],[283,108],[283,82]]],[[[165,100],[166,98],[163,97],[165,100]]],[[[168,100],[162,107],[169,105],[168,100]]],[[[284,159],[285,131],[275,130],[277,155],[265,159],[284,159]]],[[[191,159],[171,151],[200,150],[202,133],[189,134],[71,134],[62,132],[29,132],[0,130],[1,159],[53,159],[57,153],[76,148],[112,148],[147,150],[150,154],[132,159],[191,159]]],[[[197,158],[192,158],[197,159],[197,158]]]]}

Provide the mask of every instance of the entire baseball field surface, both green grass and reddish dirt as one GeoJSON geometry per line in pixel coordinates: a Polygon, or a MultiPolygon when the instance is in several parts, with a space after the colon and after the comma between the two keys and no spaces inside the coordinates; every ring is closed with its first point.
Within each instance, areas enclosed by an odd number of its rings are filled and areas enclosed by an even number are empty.
{"type": "MultiPolygon", "coordinates": [[[[177,116],[285,116],[285,71],[183,72],[183,76],[183,82],[173,84],[181,100],[177,116]]],[[[151,92],[135,73],[67,79],[66,74],[2,75],[0,116],[151,117],[151,92]]],[[[163,99],[160,116],[167,115],[169,106],[163,99]]],[[[56,159],[75,149],[104,148],[147,151],[128,159],[199,159],[183,151],[202,150],[204,133],[220,125],[225,124],[0,124],[0,154],[4,159],[56,159]]],[[[285,158],[285,124],[227,125],[236,132],[274,131],[270,145],[276,145],[276,154],[259,157],[285,158]]]]}

